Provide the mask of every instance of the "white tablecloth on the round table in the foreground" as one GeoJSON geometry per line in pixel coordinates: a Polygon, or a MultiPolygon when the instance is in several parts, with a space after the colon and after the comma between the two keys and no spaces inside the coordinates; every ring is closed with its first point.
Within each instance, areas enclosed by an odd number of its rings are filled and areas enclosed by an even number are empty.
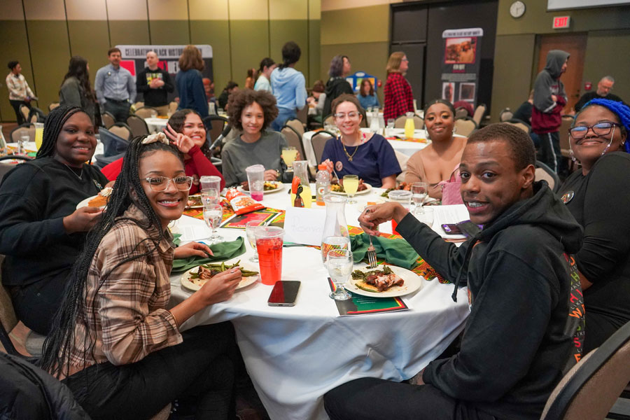
{"type": "MultiPolygon", "coordinates": [[[[288,185],[278,193],[265,194],[263,204],[286,209],[288,185]]],[[[365,204],[382,200],[381,188],[357,195],[358,204],[346,206],[346,221],[356,218],[365,204]]],[[[381,229],[391,232],[386,223],[381,229]]],[[[209,237],[199,219],[182,216],[174,232],[192,232],[209,237]]],[[[225,240],[244,236],[244,231],[219,229],[225,240]]],[[[251,267],[253,255],[246,246],[235,258],[251,267]]],[[[231,260],[230,260],[231,261],[231,260]]],[[[254,266],[255,267],[255,266],[254,266]]],[[[466,290],[451,300],[453,285],[434,279],[403,299],[408,311],[363,316],[338,316],[335,301],[328,297],[328,272],[321,251],[307,246],[283,248],[282,279],[302,282],[295,307],[269,307],[272,286],[260,281],[237,290],[232,299],[204,309],[182,329],[195,325],[232,321],[247,371],[269,416],[281,420],[328,419],[323,394],[335,386],[360,377],[401,381],[419,372],[444,351],[463,329],[468,316],[466,290]]],[[[171,304],[191,295],[180,276],[171,277],[171,304]]]]}

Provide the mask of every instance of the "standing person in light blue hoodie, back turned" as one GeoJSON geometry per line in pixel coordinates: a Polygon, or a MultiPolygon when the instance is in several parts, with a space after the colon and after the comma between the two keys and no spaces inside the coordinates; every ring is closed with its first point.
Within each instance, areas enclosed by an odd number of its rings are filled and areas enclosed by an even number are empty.
{"type": "Polygon", "coordinates": [[[282,47],[282,64],[272,71],[272,90],[278,106],[278,116],[271,125],[272,130],[280,131],[287,120],[297,116],[297,109],[306,105],[306,80],[294,68],[300,55],[300,46],[289,41],[282,47]]]}

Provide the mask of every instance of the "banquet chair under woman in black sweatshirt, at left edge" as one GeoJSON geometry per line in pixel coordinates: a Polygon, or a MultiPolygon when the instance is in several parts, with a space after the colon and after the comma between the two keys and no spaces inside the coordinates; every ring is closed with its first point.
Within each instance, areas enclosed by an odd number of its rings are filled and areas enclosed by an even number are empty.
{"type": "MultiPolygon", "coordinates": [[[[4,255],[0,255],[0,268],[2,267],[3,260],[4,255]]],[[[22,354],[15,349],[15,346],[10,339],[10,332],[13,331],[15,325],[18,325],[18,321],[20,320],[18,319],[18,316],[15,315],[11,295],[1,283],[1,277],[2,270],[0,269],[0,342],[7,353],[13,354],[13,356],[25,357],[27,355],[22,354]]],[[[29,332],[25,339],[24,346],[30,353],[30,356],[41,356],[44,339],[45,335],[41,335],[33,331],[29,332]]]]}

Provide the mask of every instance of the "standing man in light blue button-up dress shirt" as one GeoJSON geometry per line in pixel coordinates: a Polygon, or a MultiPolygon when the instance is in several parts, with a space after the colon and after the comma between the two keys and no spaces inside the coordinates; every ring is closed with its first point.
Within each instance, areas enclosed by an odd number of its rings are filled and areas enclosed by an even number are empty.
{"type": "Polygon", "coordinates": [[[101,109],[111,113],[116,121],[125,123],[129,108],[136,99],[136,83],[129,70],[120,66],[120,50],[107,51],[109,64],[97,71],[94,90],[101,109]]]}

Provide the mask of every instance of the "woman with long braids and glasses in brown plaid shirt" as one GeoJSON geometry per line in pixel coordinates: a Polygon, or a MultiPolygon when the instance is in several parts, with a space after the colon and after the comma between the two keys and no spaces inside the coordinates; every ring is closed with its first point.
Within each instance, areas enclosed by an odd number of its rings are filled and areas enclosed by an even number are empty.
{"type": "Polygon", "coordinates": [[[181,217],[192,185],[165,134],[134,139],[72,268],[41,367],[63,379],[93,419],[148,419],[182,397],[195,400],[197,419],[234,418],[232,325],[179,327],[230,299],[240,270],[217,274],[166,309],[173,258],[194,251],[175,251],[167,225],[181,217]]]}

